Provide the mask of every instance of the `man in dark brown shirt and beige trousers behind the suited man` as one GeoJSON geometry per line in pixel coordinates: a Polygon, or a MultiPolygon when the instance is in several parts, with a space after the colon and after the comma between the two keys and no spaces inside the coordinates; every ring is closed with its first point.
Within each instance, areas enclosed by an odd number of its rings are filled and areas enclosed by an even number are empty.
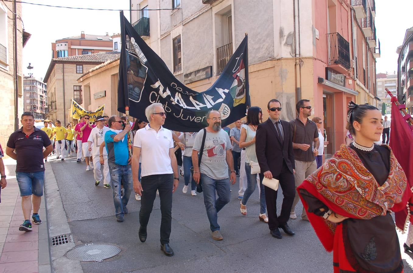
{"type": "MultiPolygon", "coordinates": [[[[310,100],[299,100],[295,106],[298,112],[298,117],[292,121],[292,148],[294,149],[295,159],[295,188],[311,175],[317,169],[316,157],[318,155],[318,129],[315,122],[308,117],[311,116],[310,100]]],[[[292,204],[291,219],[296,219],[295,206],[300,200],[297,191],[295,192],[294,203],[292,204]]],[[[308,221],[307,213],[303,207],[301,219],[308,221]]]]}

